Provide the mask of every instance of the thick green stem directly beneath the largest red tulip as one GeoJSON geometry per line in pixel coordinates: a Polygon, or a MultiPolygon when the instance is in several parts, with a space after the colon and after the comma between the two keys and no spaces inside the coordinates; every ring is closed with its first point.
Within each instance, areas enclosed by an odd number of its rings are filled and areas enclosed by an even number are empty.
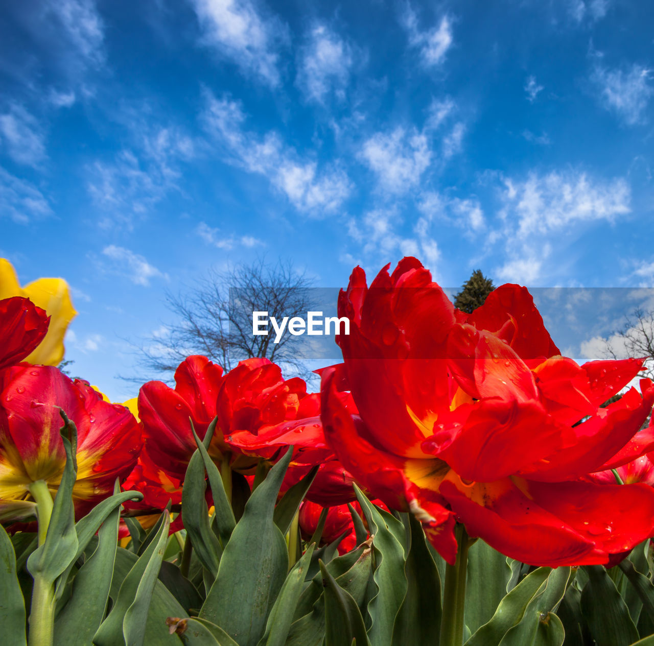
{"type": "Polygon", "coordinates": [[[464,610],[466,605],[466,574],[468,568],[468,534],[460,523],[456,524],[456,563],[447,564],[445,569],[445,591],[443,592],[443,615],[439,646],[462,646],[464,632],[464,610]]]}

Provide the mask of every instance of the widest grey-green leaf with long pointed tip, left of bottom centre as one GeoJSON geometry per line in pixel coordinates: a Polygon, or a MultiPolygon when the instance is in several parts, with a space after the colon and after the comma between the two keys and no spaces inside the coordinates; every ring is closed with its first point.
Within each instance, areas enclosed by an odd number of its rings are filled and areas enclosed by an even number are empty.
{"type": "Polygon", "coordinates": [[[273,509],[292,453],[290,447],[252,492],[200,609],[201,618],[220,626],[241,646],[256,646],[264,634],[288,573],[286,541],[273,522],[273,509]]]}

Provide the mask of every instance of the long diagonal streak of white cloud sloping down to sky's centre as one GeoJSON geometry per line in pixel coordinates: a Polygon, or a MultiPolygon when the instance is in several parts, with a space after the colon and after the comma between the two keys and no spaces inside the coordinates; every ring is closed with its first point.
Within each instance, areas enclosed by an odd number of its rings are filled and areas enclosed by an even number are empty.
{"type": "Polygon", "coordinates": [[[213,139],[224,148],[227,156],[223,161],[264,175],[298,211],[331,213],[349,196],[351,182],[337,164],[319,172],[317,162],[300,158],[277,133],[261,137],[247,131],[241,106],[232,99],[216,99],[207,92],[202,119],[213,139]]]}

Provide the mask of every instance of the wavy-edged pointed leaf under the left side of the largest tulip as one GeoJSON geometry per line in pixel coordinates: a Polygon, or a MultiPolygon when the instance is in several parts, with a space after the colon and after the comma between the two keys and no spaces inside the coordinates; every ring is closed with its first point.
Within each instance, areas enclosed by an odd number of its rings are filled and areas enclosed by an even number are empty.
{"type": "Polygon", "coordinates": [[[407,591],[405,551],[400,542],[405,536],[404,525],[390,514],[377,509],[356,485],[354,492],[373,536],[376,563],[373,582],[377,590],[372,592],[368,602],[371,620],[368,636],[375,646],[390,646],[393,623],[407,591]]]}

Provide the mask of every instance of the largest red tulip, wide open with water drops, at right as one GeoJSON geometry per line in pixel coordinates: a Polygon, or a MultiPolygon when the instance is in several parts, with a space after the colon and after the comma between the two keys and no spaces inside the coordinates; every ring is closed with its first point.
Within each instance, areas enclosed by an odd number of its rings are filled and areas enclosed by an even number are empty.
{"type": "Polygon", "coordinates": [[[654,491],[579,481],[654,448],[637,433],[649,380],[600,407],[642,360],[560,356],[525,288],[502,286],[468,316],[415,258],[387,269],[370,289],[354,269],[339,296],[344,364],[322,375],[325,436],[354,478],[413,511],[449,562],[455,517],[534,565],[602,564],[650,536],[654,491]],[[340,403],[348,384],[359,415],[340,403]]]}

